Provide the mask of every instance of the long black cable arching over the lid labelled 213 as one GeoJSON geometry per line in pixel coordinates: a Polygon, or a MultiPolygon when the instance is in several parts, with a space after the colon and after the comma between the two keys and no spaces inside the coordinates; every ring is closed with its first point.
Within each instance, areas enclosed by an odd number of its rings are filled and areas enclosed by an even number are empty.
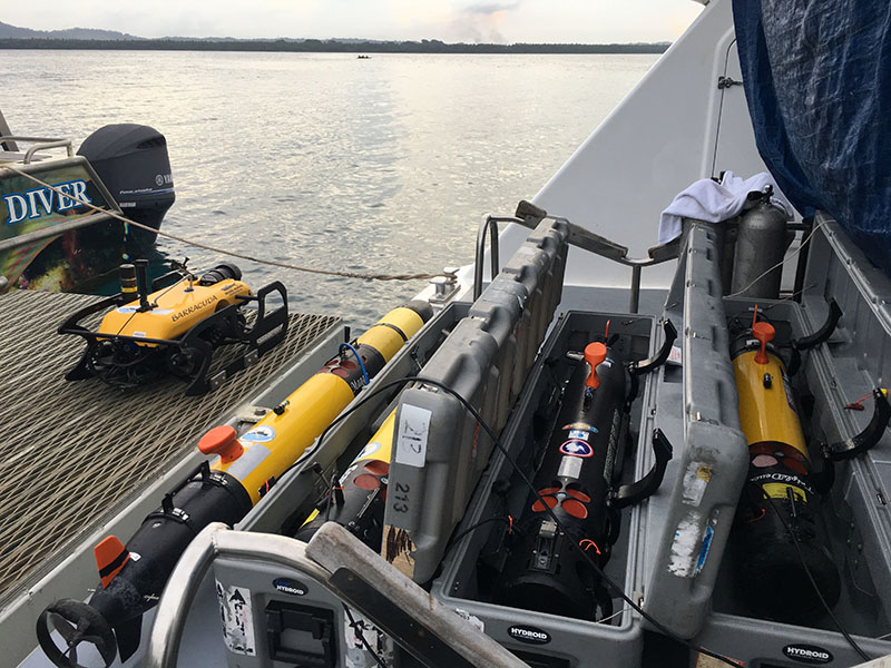
{"type": "MultiPolygon", "coordinates": [[[[461,405],[463,405],[464,409],[468,410],[468,412],[477,421],[477,423],[482,428],[482,430],[486,432],[486,434],[492,440],[492,443],[495,444],[496,448],[498,448],[499,452],[501,452],[501,454],[505,456],[505,459],[508,462],[510,462],[510,465],[513,468],[516,473],[520,477],[520,480],[522,480],[523,483],[532,491],[532,493],[535,494],[536,499],[541,502],[541,504],[545,507],[545,510],[547,511],[547,513],[550,515],[550,518],[557,524],[557,528],[560,531],[562,531],[564,533],[567,533],[566,527],[564,527],[562,522],[554,513],[554,510],[545,502],[545,500],[541,498],[541,494],[539,494],[538,490],[535,488],[535,484],[532,484],[532,481],[529,480],[529,478],[526,475],[526,473],[522,472],[522,469],[520,468],[520,465],[508,453],[507,449],[501,444],[501,441],[499,440],[499,438],[495,434],[492,429],[486,423],[486,421],[477,412],[477,410],[472,405],[470,405],[470,403],[463,396],[461,396],[456,390],[452,390],[450,386],[446,385],[444,383],[440,383],[439,381],[433,381],[433,380],[430,380],[430,379],[423,379],[423,377],[420,377],[420,376],[407,376],[407,377],[400,379],[398,381],[391,381],[389,383],[385,383],[385,384],[381,385],[380,387],[376,387],[373,392],[369,393],[361,401],[359,401],[354,406],[352,406],[352,407],[347,409],[346,411],[344,411],[343,413],[341,413],[331,424],[329,424],[325,428],[325,430],[320,434],[319,441],[316,442],[317,448],[321,448],[324,438],[327,435],[327,433],[336,424],[339,424],[340,422],[345,420],[349,415],[351,415],[356,410],[362,407],[371,399],[373,399],[374,396],[378,396],[379,394],[385,392],[386,390],[390,390],[391,387],[394,387],[394,386],[398,386],[398,385],[404,385],[405,383],[419,383],[419,384],[424,384],[424,385],[432,385],[434,387],[438,387],[438,389],[442,390],[443,392],[448,393],[449,395],[453,396],[454,399],[457,399],[461,403],[461,405]]],[[[698,651],[701,654],[709,656],[709,657],[712,657],[714,659],[723,661],[724,664],[726,664],[728,666],[733,666],[734,668],[740,668],[740,664],[737,661],[734,661],[733,659],[730,659],[730,658],[725,657],[724,655],[721,655],[721,654],[718,654],[716,651],[712,651],[709,649],[706,649],[705,647],[702,647],[702,646],[698,646],[698,645],[696,645],[694,642],[691,642],[686,638],[682,638],[681,636],[678,636],[677,633],[675,633],[674,631],[672,631],[670,629],[665,627],[662,622],[659,622],[652,615],[649,615],[649,612],[646,612],[640,606],[638,606],[634,600],[631,600],[631,598],[628,597],[628,595],[625,593],[625,591],[621,589],[621,587],[619,587],[609,576],[607,576],[604,572],[604,570],[590,558],[590,556],[587,552],[585,552],[585,550],[582,550],[578,544],[576,544],[575,541],[569,541],[569,542],[572,546],[574,549],[579,551],[579,553],[582,556],[585,561],[587,561],[587,563],[594,569],[594,571],[601,578],[601,580],[604,582],[606,582],[606,584],[613,591],[618,592],[618,595],[625,600],[626,603],[628,603],[638,615],[640,615],[640,617],[646,619],[649,623],[652,623],[654,627],[656,627],[665,636],[672,638],[673,640],[675,640],[677,642],[681,642],[682,645],[684,645],[685,647],[687,647],[691,650],[698,651]]]]}

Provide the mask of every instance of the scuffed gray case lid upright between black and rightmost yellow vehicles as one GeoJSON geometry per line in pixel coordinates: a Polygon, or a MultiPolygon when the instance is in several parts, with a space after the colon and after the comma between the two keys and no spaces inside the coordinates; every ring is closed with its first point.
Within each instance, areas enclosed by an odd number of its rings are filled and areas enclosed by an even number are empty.
{"type": "Polygon", "coordinates": [[[675,444],[665,485],[647,508],[644,609],[691,638],[709,611],[712,590],[748,470],[722,304],[719,236],[687,222],[686,244],[665,315],[683,322],[682,374],[659,376],[657,424],[675,444]],[[682,450],[683,444],[683,450],[682,450]]]}

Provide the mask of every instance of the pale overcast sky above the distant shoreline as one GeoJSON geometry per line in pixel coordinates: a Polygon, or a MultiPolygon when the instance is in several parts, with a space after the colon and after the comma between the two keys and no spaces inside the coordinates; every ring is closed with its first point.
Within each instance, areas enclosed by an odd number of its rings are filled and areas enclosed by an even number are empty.
{"type": "Polygon", "coordinates": [[[674,40],[701,10],[693,0],[0,0],[1,21],[38,30],[506,43],[674,40]]]}

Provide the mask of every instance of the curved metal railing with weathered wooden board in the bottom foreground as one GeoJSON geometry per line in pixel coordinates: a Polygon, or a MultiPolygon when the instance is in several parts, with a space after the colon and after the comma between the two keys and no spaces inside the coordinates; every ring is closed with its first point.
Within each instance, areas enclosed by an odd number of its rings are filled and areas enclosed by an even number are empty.
{"type": "Polygon", "coordinates": [[[528,668],[334,522],[322,525],[309,543],[208,524],[183,553],[158,601],[148,668],[176,666],[187,612],[217,558],[293,569],[312,578],[424,665],[528,668]]]}

